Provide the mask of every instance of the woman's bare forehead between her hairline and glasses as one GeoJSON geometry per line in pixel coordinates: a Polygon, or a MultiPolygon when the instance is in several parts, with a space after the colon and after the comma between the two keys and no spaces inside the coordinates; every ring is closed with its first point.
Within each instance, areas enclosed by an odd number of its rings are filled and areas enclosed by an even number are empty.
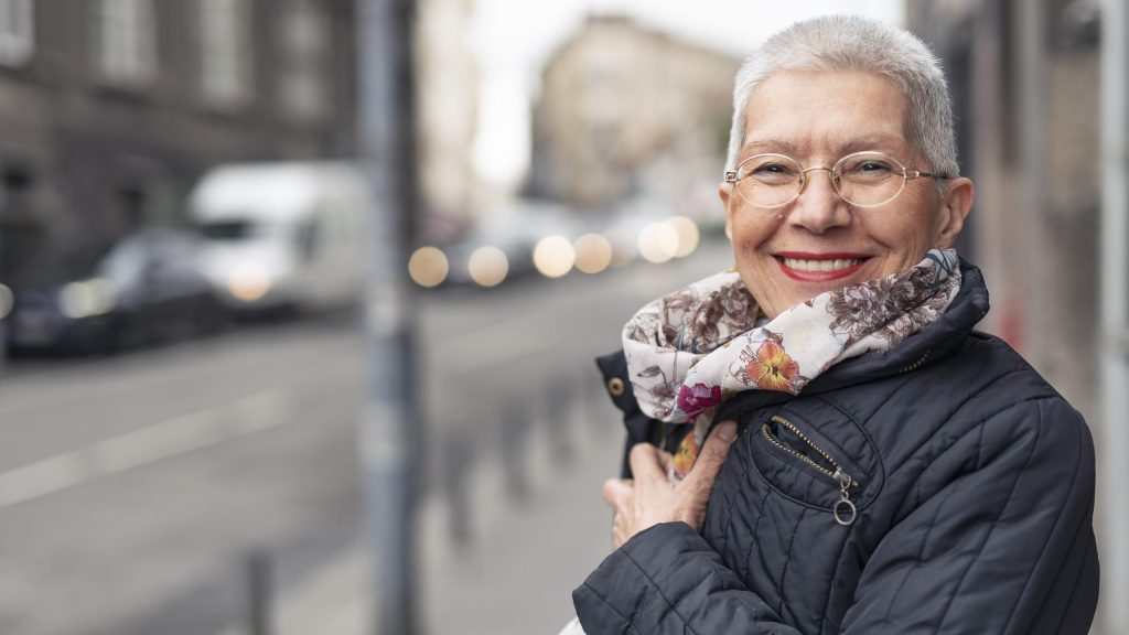
{"type": "Polygon", "coordinates": [[[750,96],[742,154],[909,150],[909,104],[890,80],[864,71],[780,71],[750,96]]]}

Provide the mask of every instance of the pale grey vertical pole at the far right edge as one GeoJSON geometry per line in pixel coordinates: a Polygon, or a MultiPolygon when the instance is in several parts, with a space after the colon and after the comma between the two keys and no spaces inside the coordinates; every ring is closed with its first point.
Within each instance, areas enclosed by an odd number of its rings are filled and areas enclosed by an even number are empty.
{"type": "Polygon", "coordinates": [[[1102,428],[1099,494],[1103,527],[1102,611],[1105,633],[1129,629],[1129,9],[1102,7],[1102,428]]]}

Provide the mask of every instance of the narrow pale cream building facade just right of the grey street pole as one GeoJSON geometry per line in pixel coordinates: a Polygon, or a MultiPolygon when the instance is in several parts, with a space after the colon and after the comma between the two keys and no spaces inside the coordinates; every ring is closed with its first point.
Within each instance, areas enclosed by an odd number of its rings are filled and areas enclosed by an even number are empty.
{"type": "Polygon", "coordinates": [[[420,194],[426,219],[475,215],[472,146],[481,72],[466,41],[473,0],[418,0],[417,111],[420,194]]]}

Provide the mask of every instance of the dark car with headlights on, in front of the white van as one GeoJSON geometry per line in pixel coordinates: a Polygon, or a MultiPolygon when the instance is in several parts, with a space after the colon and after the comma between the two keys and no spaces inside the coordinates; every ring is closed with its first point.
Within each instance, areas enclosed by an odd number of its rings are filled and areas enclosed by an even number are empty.
{"type": "Polygon", "coordinates": [[[44,251],[8,275],[12,349],[113,351],[219,330],[193,233],[148,229],[96,253],[44,251]]]}

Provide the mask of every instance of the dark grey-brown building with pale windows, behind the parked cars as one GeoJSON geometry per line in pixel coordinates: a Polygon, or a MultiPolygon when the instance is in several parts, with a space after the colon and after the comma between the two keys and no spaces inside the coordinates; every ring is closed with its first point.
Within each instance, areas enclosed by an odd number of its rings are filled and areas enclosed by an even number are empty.
{"type": "Polygon", "coordinates": [[[0,0],[7,258],[176,221],[209,166],[352,153],[350,0],[0,0]]]}

